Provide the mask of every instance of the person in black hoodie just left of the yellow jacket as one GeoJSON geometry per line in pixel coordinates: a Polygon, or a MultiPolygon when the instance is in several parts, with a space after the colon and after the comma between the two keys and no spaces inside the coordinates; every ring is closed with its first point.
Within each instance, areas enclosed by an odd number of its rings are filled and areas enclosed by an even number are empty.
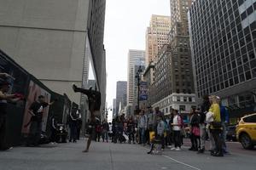
{"type": "Polygon", "coordinates": [[[204,153],[205,151],[205,144],[207,138],[207,128],[206,128],[206,115],[211,107],[211,103],[209,101],[209,95],[204,95],[203,103],[201,104],[201,111],[200,111],[200,150],[198,153],[204,153]]]}

